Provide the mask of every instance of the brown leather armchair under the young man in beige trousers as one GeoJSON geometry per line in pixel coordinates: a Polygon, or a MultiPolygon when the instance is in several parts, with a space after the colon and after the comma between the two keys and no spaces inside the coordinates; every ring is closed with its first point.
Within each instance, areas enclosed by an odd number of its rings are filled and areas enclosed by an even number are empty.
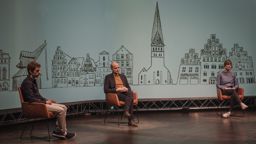
{"type": "MultiPolygon", "coordinates": [[[[33,124],[33,127],[31,129],[31,132],[30,132],[30,137],[50,141],[51,138],[50,138],[50,132],[49,132],[49,126],[48,126],[48,120],[47,119],[55,116],[56,114],[54,114],[52,112],[48,112],[47,107],[44,103],[24,102],[22,91],[21,91],[20,87],[18,87],[18,91],[19,91],[19,94],[20,94],[21,108],[22,108],[23,117],[28,119],[27,123],[28,123],[29,119],[34,119],[34,124],[33,124]],[[49,134],[49,136],[47,136],[47,137],[49,138],[49,140],[45,139],[46,137],[36,137],[36,136],[31,135],[37,118],[46,118],[47,127],[48,127],[48,134],[49,134]]],[[[51,101],[52,101],[52,103],[56,103],[55,100],[51,100],[51,101]]],[[[26,123],[25,128],[27,127],[27,123],[26,123]]],[[[20,137],[21,140],[24,140],[24,139],[22,139],[22,135],[25,131],[25,128],[24,128],[24,130],[21,134],[21,137],[20,137]]],[[[26,138],[26,139],[31,139],[31,138],[26,138]]]]}

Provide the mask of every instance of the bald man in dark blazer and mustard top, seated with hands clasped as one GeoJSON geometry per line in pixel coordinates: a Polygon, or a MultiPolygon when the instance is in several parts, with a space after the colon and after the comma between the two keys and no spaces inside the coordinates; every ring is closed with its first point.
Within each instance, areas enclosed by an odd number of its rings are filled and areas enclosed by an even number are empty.
{"type": "Polygon", "coordinates": [[[129,126],[138,126],[133,119],[133,93],[126,79],[126,76],[119,74],[119,64],[116,62],[111,63],[112,74],[108,74],[105,77],[104,93],[117,94],[120,101],[125,102],[124,116],[128,118],[129,126]]]}

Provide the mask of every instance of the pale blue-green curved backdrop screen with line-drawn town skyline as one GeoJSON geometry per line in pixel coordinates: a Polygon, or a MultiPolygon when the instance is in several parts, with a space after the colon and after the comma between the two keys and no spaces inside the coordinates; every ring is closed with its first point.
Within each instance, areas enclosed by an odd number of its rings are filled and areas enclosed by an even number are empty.
{"type": "Polygon", "coordinates": [[[11,26],[1,34],[10,36],[0,47],[0,99],[8,102],[0,109],[20,107],[17,87],[31,61],[41,64],[40,93],[58,103],[105,99],[112,62],[139,98],[215,97],[225,60],[245,95],[255,95],[253,1],[234,3],[239,12],[215,2],[2,1],[11,26]]]}

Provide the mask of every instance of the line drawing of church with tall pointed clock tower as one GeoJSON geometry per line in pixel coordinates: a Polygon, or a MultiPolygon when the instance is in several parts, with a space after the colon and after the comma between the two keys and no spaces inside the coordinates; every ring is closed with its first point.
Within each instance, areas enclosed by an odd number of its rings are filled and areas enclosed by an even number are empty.
{"type": "Polygon", "coordinates": [[[170,71],[165,67],[164,40],[160,22],[158,2],[151,37],[151,66],[139,73],[139,85],[172,84],[170,71]]]}

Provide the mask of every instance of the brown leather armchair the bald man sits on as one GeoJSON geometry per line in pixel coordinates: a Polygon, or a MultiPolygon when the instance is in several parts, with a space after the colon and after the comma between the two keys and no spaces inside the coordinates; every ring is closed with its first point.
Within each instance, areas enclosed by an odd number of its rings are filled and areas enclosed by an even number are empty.
{"type": "MultiPolygon", "coordinates": [[[[106,117],[107,117],[107,114],[108,114],[108,111],[109,111],[110,107],[113,107],[113,106],[117,107],[118,108],[118,125],[120,125],[120,123],[122,121],[122,117],[121,117],[121,120],[119,121],[119,107],[120,106],[125,106],[125,102],[119,101],[116,94],[107,93],[107,94],[105,94],[105,97],[106,97],[106,105],[109,107],[108,110],[107,110],[107,113],[106,113],[106,117]]],[[[136,92],[133,92],[133,105],[135,105],[136,114],[137,114],[138,123],[139,123],[139,117],[138,117],[138,113],[137,113],[138,96],[137,96],[136,92]]],[[[122,111],[123,111],[123,109],[122,109],[122,111]]],[[[106,117],[104,119],[104,123],[117,123],[117,122],[105,122],[106,117]]]]}

